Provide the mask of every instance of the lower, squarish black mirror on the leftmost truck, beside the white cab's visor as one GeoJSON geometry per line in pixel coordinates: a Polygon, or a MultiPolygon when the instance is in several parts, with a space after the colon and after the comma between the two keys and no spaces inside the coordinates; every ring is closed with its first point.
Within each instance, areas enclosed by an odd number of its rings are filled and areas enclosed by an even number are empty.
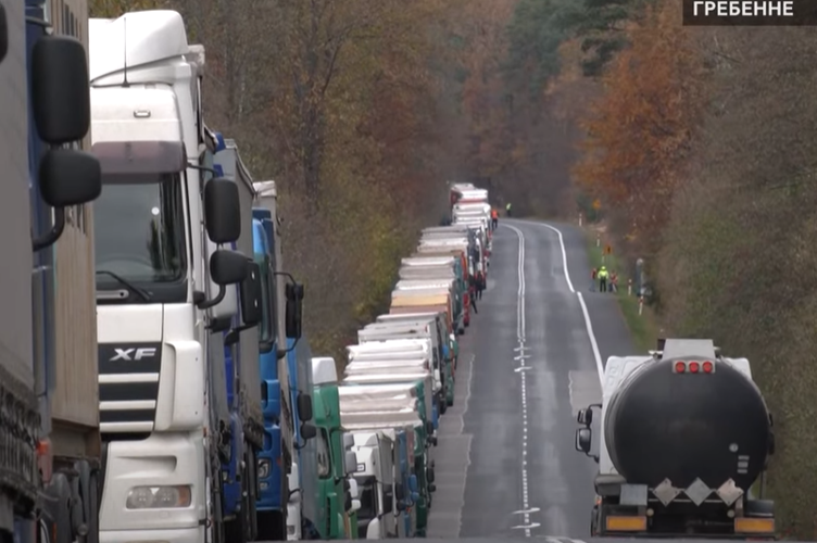
{"type": "Polygon", "coordinates": [[[42,201],[51,207],[91,202],[102,193],[102,166],[92,154],[73,149],[49,149],[40,161],[42,201]]]}

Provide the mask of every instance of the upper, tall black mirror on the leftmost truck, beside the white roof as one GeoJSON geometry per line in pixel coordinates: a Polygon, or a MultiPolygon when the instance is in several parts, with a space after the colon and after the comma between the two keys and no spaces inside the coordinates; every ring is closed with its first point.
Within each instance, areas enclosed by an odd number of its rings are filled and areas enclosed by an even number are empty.
{"type": "Polygon", "coordinates": [[[52,146],[83,139],[91,123],[85,48],[67,36],[42,36],[32,51],[32,106],[39,137],[52,146]]]}

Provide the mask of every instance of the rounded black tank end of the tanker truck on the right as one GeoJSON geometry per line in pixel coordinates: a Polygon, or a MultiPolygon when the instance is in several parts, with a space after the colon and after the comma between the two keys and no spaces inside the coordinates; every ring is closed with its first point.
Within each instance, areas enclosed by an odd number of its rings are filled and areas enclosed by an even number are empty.
{"type": "Polygon", "coordinates": [[[621,381],[607,400],[603,430],[628,483],[655,488],[669,479],[687,488],[700,478],[718,488],[732,479],[749,490],[765,467],[771,422],[757,386],[736,364],[747,368],[747,361],[733,362],[712,354],[663,357],[621,381]]]}

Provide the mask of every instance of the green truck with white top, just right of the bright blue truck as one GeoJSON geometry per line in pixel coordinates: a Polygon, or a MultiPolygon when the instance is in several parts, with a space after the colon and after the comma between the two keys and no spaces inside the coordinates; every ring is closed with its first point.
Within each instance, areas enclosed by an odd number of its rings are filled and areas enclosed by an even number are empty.
{"type": "Polygon", "coordinates": [[[353,451],[354,439],[340,424],[340,400],[338,396],[338,372],[335,358],[318,356],[312,358],[313,421],[318,437],[329,444],[332,478],[320,481],[320,500],[330,504],[328,518],[331,526],[329,539],[357,539],[356,510],[361,503],[352,483],[357,470],[357,459],[353,451]],[[337,521],[335,520],[337,519],[337,521]]]}

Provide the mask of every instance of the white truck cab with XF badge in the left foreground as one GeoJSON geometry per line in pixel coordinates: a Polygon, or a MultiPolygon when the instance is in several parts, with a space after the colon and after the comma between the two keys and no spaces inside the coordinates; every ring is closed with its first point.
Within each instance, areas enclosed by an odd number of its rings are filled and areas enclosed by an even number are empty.
{"type": "MultiPolygon", "coordinates": [[[[93,220],[100,540],[218,541],[225,429],[212,427],[208,391],[224,371],[224,323],[238,311],[228,287],[250,266],[225,248],[241,233],[238,188],[203,168],[215,150],[202,121],[204,51],[188,45],[174,11],[91,20],[89,31],[102,167],[93,220]]],[[[253,307],[242,300],[244,320],[253,307]]]]}

